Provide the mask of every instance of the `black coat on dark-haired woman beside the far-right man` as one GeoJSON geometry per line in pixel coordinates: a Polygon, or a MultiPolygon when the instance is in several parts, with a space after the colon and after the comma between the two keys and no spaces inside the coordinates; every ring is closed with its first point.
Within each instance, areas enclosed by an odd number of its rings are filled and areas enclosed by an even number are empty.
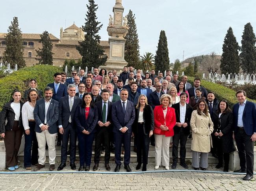
{"type": "Polygon", "coordinates": [[[223,147],[223,153],[230,153],[234,150],[233,146],[233,114],[231,112],[228,113],[223,113],[221,114],[221,117],[219,118],[219,113],[214,112],[212,121],[214,124],[214,130],[213,134],[217,132],[218,125],[219,125],[219,119],[221,120],[220,122],[220,130],[223,133],[223,136],[221,137],[222,140],[222,147],[223,147]]]}

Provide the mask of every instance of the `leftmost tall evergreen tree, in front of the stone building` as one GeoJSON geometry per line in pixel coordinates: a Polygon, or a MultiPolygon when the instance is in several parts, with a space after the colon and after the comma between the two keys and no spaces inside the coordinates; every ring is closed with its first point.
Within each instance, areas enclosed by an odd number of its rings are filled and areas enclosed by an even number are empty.
{"type": "Polygon", "coordinates": [[[6,35],[6,50],[4,52],[3,60],[11,65],[11,68],[18,65],[18,69],[25,67],[26,63],[23,58],[24,47],[22,45],[22,33],[19,28],[18,17],[14,17],[6,35]]]}

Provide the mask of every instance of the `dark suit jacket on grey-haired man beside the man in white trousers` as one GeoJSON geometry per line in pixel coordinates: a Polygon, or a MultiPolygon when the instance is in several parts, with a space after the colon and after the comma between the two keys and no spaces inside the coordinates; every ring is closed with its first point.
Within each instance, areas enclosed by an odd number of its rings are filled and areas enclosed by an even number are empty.
{"type": "Polygon", "coordinates": [[[78,96],[74,96],[74,103],[72,109],[69,109],[69,96],[62,97],[59,102],[59,121],[58,125],[62,125],[65,129],[69,124],[69,116],[71,116],[71,124],[74,127],[74,115],[76,113],[76,108],[80,106],[82,100],[78,96]]]}

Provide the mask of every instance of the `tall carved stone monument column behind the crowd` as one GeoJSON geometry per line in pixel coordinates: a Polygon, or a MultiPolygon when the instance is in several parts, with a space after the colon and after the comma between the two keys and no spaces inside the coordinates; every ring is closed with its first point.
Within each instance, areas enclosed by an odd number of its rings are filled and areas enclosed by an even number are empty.
{"type": "Polygon", "coordinates": [[[107,71],[123,70],[123,67],[128,63],[124,60],[124,44],[129,26],[127,25],[127,16],[123,17],[124,7],[122,6],[122,0],[116,0],[113,7],[113,17],[109,15],[109,25],[107,27],[109,42],[109,58],[106,61],[106,65],[101,65],[100,68],[104,68],[107,71]],[[124,21],[124,22],[123,22],[124,21]]]}

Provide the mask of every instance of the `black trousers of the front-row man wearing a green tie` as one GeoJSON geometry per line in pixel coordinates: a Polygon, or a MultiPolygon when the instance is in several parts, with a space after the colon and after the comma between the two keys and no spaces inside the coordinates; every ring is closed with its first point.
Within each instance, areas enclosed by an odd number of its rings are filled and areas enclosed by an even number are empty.
{"type": "Polygon", "coordinates": [[[100,162],[100,149],[101,144],[105,147],[105,164],[109,163],[110,159],[110,132],[109,127],[100,127],[100,130],[96,133],[95,136],[95,155],[94,163],[98,164],[100,162]]]}

